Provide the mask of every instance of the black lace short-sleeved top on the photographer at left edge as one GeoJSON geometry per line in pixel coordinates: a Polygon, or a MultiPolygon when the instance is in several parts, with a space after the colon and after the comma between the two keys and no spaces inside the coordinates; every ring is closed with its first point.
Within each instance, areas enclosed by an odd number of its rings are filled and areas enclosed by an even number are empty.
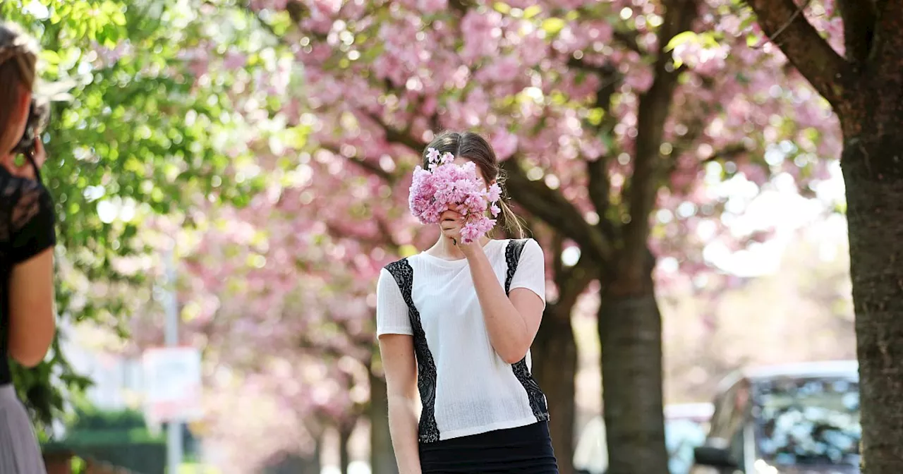
{"type": "Polygon", "coordinates": [[[9,276],[17,264],[56,244],[53,201],[40,181],[0,166],[0,386],[9,371],[9,276]]]}

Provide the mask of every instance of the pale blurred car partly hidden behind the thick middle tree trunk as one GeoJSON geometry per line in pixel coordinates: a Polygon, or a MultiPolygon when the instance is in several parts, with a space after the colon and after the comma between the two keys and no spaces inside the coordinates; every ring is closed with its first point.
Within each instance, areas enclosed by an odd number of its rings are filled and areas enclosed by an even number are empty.
{"type": "MultiPolygon", "coordinates": [[[[705,440],[712,404],[669,404],[665,407],[665,444],[671,474],[687,474],[693,465],[693,449],[705,440]]],[[[577,440],[573,467],[578,474],[603,474],[609,466],[605,422],[596,416],[577,440]]]]}

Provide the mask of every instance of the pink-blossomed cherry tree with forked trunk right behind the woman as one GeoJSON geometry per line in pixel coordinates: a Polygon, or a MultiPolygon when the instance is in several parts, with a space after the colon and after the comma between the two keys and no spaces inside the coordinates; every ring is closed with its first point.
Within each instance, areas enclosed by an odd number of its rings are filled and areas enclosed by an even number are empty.
{"type": "MultiPolygon", "coordinates": [[[[520,208],[552,230],[562,251],[579,249],[576,262],[560,265],[575,271],[553,293],[570,294],[562,290],[572,279],[601,283],[612,472],[663,471],[652,271],[666,248],[650,248],[650,232],[706,222],[718,234],[723,203],[699,185],[704,173],[755,185],[786,171],[805,188],[824,177],[814,158],[833,145],[816,127],[830,120],[824,104],[804,101],[811,90],[777,49],[749,47],[749,12],[689,0],[251,8],[303,64],[312,140],[393,194],[405,193],[405,175],[434,131],[489,135],[520,208]],[[660,227],[652,220],[659,206],[672,209],[660,227]]],[[[413,242],[408,228],[383,232],[413,242]]],[[[704,263],[682,260],[689,270],[704,263]]],[[[568,325],[547,324],[571,337],[568,325]]]]}

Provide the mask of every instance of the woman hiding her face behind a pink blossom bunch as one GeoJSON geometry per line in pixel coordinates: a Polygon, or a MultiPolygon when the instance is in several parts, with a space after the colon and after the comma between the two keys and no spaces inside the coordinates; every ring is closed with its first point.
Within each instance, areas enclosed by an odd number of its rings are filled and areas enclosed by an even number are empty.
{"type": "Polygon", "coordinates": [[[440,237],[386,265],[377,283],[399,470],[557,473],[545,395],[530,374],[545,309],[543,251],[533,239],[486,236],[496,218],[509,233],[522,229],[499,200],[498,160],[481,136],[437,136],[424,167],[414,172],[411,210],[440,237]]]}

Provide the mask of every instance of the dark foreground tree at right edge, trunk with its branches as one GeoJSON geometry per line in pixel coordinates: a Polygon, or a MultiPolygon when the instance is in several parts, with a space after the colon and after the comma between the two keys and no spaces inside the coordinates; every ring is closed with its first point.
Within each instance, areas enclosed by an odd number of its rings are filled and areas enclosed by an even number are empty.
{"type": "MultiPolygon", "coordinates": [[[[769,44],[830,104],[840,122],[850,227],[852,295],[862,390],[864,472],[903,469],[903,331],[899,216],[903,168],[898,107],[903,5],[750,0],[769,44]]],[[[837,134],[838,129],[833,133],[837,134]]]]}

